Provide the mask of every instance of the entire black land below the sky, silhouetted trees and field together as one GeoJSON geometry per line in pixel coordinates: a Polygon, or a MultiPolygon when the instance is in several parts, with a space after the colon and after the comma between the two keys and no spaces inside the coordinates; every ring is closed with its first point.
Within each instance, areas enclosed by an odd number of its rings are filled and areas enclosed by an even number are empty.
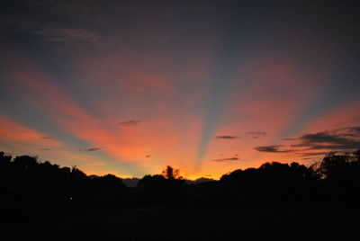
{"type": "Polygon", "coordinates": [[[0,240],[360,240],[360,150],[207,183],[185,183],[167,166],[135,188],[0,157],[0,240]]]}

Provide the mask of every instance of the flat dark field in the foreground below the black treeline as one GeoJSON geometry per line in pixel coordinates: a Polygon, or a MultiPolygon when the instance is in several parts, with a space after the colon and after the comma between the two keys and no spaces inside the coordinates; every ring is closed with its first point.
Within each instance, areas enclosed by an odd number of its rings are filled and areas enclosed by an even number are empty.
{"type": "MultiPolygon", "coordinates": [[[[48,240],[360,240],[354,206],[14,210],[3,234],[48,240]]],[[[36,239],[35,239],[36,240],[36,239]]]]}

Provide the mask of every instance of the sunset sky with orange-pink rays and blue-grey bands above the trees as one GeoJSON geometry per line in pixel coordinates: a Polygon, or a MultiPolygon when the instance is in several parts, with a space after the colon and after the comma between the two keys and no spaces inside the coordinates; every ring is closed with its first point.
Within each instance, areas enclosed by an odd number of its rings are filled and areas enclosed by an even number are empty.
{"type": "Polygon", "coordinates": [[[360,147],[356,1],[0,4],[0,150],[218,179],[360,147]]]}

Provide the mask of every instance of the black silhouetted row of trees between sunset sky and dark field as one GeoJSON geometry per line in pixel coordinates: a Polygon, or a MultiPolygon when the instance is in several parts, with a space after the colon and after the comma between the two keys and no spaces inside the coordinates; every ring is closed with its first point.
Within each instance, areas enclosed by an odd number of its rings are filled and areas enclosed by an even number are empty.
{"type": "Polygon", "coordinates": [[[76,167],[0,152],[0,195],[6,205],[242,205],[360,202],[360,149],[331,152],[311,166],[266,163],[238,169],[220,181],[186,183],[178,170],[146,175],[135,188],[107,174],[87,176],[76,167]]]}

